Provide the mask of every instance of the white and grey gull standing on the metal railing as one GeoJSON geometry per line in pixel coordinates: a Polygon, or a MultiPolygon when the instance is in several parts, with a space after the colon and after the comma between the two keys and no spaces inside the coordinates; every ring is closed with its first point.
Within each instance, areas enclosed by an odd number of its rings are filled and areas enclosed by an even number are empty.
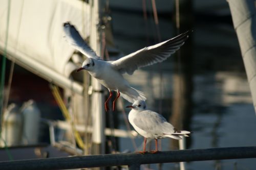
{"type": "Polygon", "coordinates": [[[146,108],[145,101],[137,100],[132,106],[127,106],[126,108],[132,108],[129,113],[129,122],[132,124],[134,129],[144,137],[144,147],[143,151],[140,153],[144,154],[146,152],[146,139],[155,139],[156,150],[151,151],[151,153],[158,152],[157,140],[165,137],[170,137],[174,139],[182,139],[183,136],[188,136],[190,132],[179,131],[173,127],[166,119],[156,112],[148,110],[146,108]]]}

